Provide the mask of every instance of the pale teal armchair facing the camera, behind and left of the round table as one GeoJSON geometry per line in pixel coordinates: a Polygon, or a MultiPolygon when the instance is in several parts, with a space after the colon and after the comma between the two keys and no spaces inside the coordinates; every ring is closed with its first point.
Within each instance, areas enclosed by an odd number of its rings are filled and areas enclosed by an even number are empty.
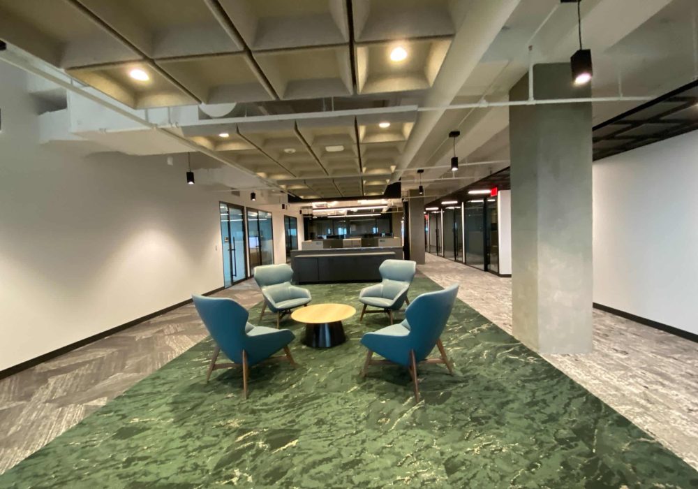
{"type": "Polygon", "coordinates": [[[264,304],[260,321],[265,309],[269,307],[276,313],[276,328],[279,328],[281,319],[290,314],[291,309],[307,305],[313,298],[308,289],[291,285],[293,269],[290,265],[258,265],[254,270],[255,282],[262,289],[264,304]]]}

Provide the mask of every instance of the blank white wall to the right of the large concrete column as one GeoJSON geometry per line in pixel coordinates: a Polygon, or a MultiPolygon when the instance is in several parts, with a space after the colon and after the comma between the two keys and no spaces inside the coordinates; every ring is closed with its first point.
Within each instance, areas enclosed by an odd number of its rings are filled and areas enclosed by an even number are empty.
{"type": "Polygon", "coordinates": [[[698,131],[596,161],[594,302],[698,334],[698,131]]]}

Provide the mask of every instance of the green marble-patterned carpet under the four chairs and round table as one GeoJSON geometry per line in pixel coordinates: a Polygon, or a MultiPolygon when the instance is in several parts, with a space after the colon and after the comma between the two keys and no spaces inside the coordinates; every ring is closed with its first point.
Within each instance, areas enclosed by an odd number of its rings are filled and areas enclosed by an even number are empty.
{"type": "MultiPolygon", "coordinates": [[[[315,303],[349,297],[358,310],[363,285],[310,289],[315,303]]],[[[436,289],[417,277],[410,297],[436,289]]],[[[421,367],[422,402],[401,367],[360,379],[359,338],[386,324],[357,314],[345,321],[348,342],[313,350],[288,319],[299,367],[253,367],[247,401],[237,369],[205,384],[212,344],[201,342],[0,476],[0,487],[698,487],[676,455],[461,301],[443,335],[456,375],[421,367]]]]}

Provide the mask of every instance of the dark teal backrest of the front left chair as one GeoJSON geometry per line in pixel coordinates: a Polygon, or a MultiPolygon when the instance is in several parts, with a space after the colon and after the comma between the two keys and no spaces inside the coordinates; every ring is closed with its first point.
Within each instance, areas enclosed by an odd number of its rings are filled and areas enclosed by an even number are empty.
{"type": "Polygon", "coordinates": [[[235,300],[228,298],[192,295],[194,306],[199,312],[211,337],[230,360],[242,363],[245,348],[245,326],[249,313],[235,300]]]}

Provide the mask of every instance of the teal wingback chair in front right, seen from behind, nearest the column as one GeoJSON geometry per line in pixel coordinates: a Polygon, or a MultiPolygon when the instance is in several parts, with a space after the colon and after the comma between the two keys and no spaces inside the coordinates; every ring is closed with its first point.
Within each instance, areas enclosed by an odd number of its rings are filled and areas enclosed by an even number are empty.
{"type": "Polygon", "coordinates": [[[453,375],[453,367],[446,356],[440,336],[451,315],[457,293],[458,284],[441,291],[423,293],[408,306],[404,321],[363,335],[361,344],[366,346],[369,352],[366,354],[362,377],[366,377],[369,365],[404,365],[410,370],[415,387],[415,400],[419,402],[417,363],[443,363],[453,375]],[[427,358],[434,346],[438,347],[440,358],[427,358]],[[372,360],[373,353],[378,353],[386,360],[372,360]]]}

